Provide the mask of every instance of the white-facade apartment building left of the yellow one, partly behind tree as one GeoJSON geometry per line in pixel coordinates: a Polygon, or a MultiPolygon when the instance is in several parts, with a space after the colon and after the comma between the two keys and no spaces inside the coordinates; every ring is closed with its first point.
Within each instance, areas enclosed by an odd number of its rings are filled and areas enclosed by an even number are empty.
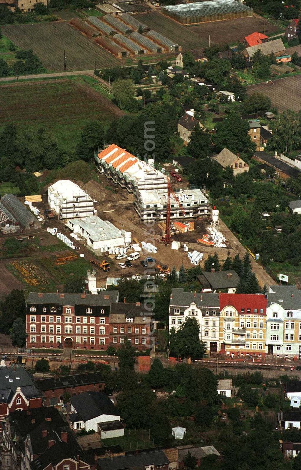
{"type": "Polygon", "coordinates": [[[170,295],[169,330],[174,328],[177,331],[186,318],[198,321],[200,339],[207,350],[219,351],[218,294],[173,289],[170,295]]]}

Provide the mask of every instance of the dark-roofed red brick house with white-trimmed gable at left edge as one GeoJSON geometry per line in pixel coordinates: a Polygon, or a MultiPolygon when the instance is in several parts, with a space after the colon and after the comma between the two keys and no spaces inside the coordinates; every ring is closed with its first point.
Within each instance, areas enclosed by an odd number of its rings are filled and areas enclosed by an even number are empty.
{"type": "Polygon", "coordinates": [[[42,394],[22,367],[0,367],[0,429],[9,413],[42,406],[42,394]]]}

